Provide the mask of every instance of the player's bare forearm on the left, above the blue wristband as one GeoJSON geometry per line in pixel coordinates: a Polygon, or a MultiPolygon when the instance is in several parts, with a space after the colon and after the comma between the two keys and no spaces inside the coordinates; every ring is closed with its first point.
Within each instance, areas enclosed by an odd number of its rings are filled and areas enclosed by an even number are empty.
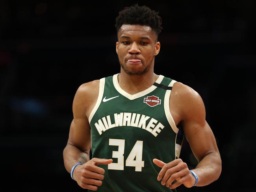
{"type": "Polygon", "coordinates": [[[72,166],[77,162],[85,163],[90,160],[89,151],[84,152],[71,144],[67,144],[63,150],[63,159],[66,170],[70,173],[72,166]]]}

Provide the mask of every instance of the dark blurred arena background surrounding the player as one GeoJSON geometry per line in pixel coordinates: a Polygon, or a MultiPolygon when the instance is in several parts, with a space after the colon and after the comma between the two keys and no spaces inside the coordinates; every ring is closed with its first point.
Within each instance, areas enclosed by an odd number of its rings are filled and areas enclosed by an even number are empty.
{"type": "MultiPolygon", "coordinates": [[[[115,17],[136,2],[163,20],[155,73],[201,95],[223,161],[217,181],[178,192],[255,188],[255,0],[0,0],[2,188],[86,191],[63,164],[72,101],[82,83],[120,71],[115,17]]],[[[187,141],[181,158],[195,167],[187,141]]]]}

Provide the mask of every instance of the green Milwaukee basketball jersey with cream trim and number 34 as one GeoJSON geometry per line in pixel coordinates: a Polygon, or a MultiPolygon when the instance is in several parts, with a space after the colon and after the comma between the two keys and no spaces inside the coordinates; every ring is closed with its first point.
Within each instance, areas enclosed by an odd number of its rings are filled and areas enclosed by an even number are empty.
{"type": "Polygon", "coordinates": [[[89,116],[92,157],[113,159],[99,165],[105,174],[98,191],[176,191],[161,185],[161,168],[153,163],[154,158],[167,163],[180,155],[183,133],[169,110],[176,81],[160,75],[151,87],[131,95],[121,89],[117,76],[100,79],[89,116]]]}

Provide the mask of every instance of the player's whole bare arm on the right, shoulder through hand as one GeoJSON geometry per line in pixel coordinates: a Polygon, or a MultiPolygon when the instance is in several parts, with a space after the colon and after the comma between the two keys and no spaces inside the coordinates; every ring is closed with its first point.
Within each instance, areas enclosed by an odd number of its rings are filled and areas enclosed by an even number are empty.
{"type": "MultiPolygon", "coordinates": [[[[182,125],[191,150],[198,160],[197,167],[193,169],[198,176],[197,186],[208,185],[221,174],[221,157],[213,132],[205,119],[204,103],[195,90],[182,83],[174,84],[172,94],[173,116],[176,123],[180,122],[182,125]]],[[[162,179],[162,185],[176,188],[182,184],[186,187],[195,184],[195,177],[181,159],[167,163],[154,159],[153,162],[162,168],[158,174],[158,181],[162,179]]]]}

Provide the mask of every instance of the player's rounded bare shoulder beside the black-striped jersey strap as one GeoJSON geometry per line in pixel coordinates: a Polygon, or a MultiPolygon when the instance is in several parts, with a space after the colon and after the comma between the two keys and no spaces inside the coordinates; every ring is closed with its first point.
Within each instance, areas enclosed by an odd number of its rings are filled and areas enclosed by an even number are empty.
{"type": "Polygon", "coordinates": [[[176,82],[173,85],[171,97],[170,99],[177,103],[183,118],[189,118],[193,115],[205,116],[204,102],[200,94],[191,87],[176,82]]]}

